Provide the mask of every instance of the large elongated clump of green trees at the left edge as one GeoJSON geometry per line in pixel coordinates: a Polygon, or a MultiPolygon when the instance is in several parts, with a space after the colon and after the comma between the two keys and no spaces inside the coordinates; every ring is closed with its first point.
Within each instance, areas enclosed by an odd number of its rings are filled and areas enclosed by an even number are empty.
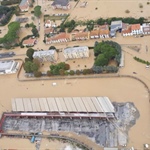
{"type": "Polygon", "coordinates": [[[3,38],[0,38],[0,44],[3,44],[5,48],[10,48],[18,39],[18,31],[20,29],[19,22],[11,22],[8,25],[8,32],[3,38]]]}

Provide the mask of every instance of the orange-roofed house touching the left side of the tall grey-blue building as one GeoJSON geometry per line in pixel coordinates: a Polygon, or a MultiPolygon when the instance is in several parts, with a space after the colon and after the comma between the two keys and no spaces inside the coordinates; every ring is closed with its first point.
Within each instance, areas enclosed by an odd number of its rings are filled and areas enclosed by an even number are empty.
{"type": "Polygon", "coordinates": [[[109,26],[106,25],[102,25],[99,26],[99,37],[100,38],[109,38],[109,26]]]}

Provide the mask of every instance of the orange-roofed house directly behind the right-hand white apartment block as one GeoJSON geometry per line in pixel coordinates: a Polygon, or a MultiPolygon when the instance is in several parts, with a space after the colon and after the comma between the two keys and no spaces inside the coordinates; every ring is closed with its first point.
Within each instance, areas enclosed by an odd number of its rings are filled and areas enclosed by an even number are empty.
{"type": "Polygon", "coordinates": [[[72,40],[88,40],[89,32],[78,32],[76,34],[72,34],[72,40]]]}

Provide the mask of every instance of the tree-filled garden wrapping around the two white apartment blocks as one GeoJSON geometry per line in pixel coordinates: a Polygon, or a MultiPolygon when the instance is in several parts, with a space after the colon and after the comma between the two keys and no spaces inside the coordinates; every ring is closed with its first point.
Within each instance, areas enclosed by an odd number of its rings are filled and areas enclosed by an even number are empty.
{"type": "MultiPolygon", "coordinates": [[[[56,48],[55,48],[56,49],[56,48]]],[[[90,75],[100,73],[116,73],[119,69],[121,59],[121,47],[118,43],[113,41],[95,42],[94,45],[94,64],[92,67],[83,69],[71,69],[69,61],[59,62],[56,64],[49,62],[49,69],[44,73],[40,68],[45,62],[40,62],[38,59],[33,59],[34,49],[29,48],[26,52],[23,68],[26,74],[32,74],[32,77],[59,77],[59,76],[74,76],[74,75],[90,75]]],[[[58,51],[56,49],[56,51],[58,51]]],[[[93,51],[93,50],[90,50],[93,51]]],[[[74,60],[78,61],[78,60],[74,60]]],[[[82,62],[84,60],[82,59],[82,62]]],[[[85,62],[85,61],[84,61],[85,62]]],[[[46,62],[47,63],[47,62],[46,62]]]]}

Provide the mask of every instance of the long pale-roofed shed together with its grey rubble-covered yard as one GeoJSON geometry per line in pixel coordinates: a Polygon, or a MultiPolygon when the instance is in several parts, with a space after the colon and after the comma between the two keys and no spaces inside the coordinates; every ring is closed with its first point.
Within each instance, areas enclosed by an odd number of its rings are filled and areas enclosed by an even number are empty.
{"type": "Polygon", "coordinates": [[[22,137],[65,131],[86,135],[102,147],[125,146],[139,115],[133,103],[112,103],[108,97],[15,98],[12,112],[1,117],[0,133],[22,137]]]}

